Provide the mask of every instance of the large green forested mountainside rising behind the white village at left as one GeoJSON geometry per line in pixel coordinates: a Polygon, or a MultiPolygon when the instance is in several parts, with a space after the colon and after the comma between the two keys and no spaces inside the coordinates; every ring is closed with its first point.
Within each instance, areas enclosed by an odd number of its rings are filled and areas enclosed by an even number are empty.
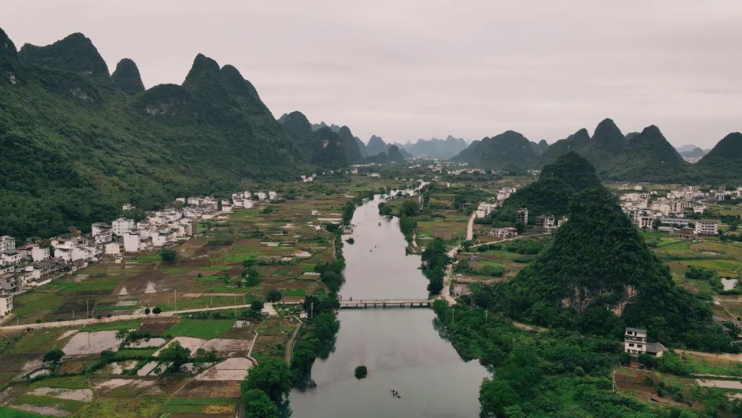
{"type": "Polygon", "coordinates": [[[18,52],[0,30],[0,109],[0,233],[16,238],[312,166],[252,84],[201,54],[183,85],[144,91],[80,33],[18,52]]]}

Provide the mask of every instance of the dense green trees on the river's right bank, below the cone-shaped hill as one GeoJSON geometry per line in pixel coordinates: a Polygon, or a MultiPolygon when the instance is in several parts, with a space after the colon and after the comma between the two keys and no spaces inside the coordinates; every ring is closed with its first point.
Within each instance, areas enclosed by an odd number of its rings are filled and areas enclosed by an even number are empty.
{"type": "MultiPolygon", "coordinates": [[[[468,304],[448,307],[436,301],[433,307],[459,355],[479,359],[493,370],[493,377],[485,379],[479,391],[482,417],[701,418],[735,408],[726,397],[720,402],[714,391],[706,389],[683,398],[694,409],[684,409],[682,415],[661,403],[640,402],[629,397],[631,392],[614,393],[611,373],[621,353],[614,336],[567,330],[532,333],[468,304]]],[[[676,399],[672,391],[655,396],[676,399]]]]}

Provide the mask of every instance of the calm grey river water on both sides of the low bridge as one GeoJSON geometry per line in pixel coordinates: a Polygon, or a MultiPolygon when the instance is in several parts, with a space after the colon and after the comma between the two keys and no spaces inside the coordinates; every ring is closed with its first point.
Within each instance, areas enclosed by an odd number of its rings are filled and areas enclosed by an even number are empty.
{"type": "MultiPolygon", "coordinates": [[[[405,255],[398,219],[378,215],[381,201],[376,197],[355,210],[355,244],[343,247],[341,295],[427,298],[420,257],[405,255]]],[[[338,319],[335,350],[312,368],[317,386],[289,396],[293,418],[479,416],[479,385],[489,373],[476,361],[464,362],[439,336],[433,310],[342,310],[338,319]],[[355,379],[358,365],[368,368],[367,378],[355,379]],[[393,398],[391,389],[401,398],[393,398]]]]}

